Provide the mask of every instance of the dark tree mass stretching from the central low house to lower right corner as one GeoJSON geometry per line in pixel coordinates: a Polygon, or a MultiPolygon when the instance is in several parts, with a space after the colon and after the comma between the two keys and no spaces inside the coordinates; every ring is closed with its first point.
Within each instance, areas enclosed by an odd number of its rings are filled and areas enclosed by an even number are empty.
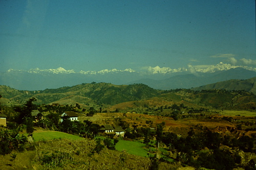
{"type": "MultiPolygon", "coordinates": [[[[222,136],[207,128],[196,134],[194,129],[191,128],[188,135],[182,137],[175,133],[163,133],[164,126],[164,123],[158,124],[156,129],[153,130],[150,128],[138,128],[133,125],[133,129],[126,131],[124,137],[138,140],[143,138],[146,147],[158,148],[159,145],[165,145],[168,151],[176,153],[175,159],[183,164],[217,170],[233,169],[239,166],[246,168],[247,165],[241,164],[242,158],[238,154],[239,151],[252,153],[256,151],[255,140],[249,136],[244,135],[237,139],[228,135],[222,136]]],[[[168,155],[166,157],[174,158],[168,155]]],[[[156,158],[152,159],[154,161],[157,160],[156,158]]],[[[166,161],[166,159],[158,161],[166,161]]]]}

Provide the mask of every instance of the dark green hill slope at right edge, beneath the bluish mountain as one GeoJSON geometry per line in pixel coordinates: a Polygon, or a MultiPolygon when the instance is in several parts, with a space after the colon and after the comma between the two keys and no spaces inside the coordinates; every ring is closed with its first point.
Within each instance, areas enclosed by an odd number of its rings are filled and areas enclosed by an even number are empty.
{"type": "Polygon", "coordinates": [[[245,90],[256,94],[256,77],[247,80],[228,80],[205,86],[192,88],[193,90],[210,90],[210,89],[222,89],[222,90],[245,90]]]}

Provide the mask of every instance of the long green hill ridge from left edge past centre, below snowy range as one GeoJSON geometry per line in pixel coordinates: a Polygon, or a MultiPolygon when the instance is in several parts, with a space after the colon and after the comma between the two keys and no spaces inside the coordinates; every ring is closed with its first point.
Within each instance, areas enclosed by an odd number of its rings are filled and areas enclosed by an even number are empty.
{"type": "Polygon", "coordinates": [[[16,90],[7,86],[0,86],[0,94],[3,98],[12,101],[26,101],[31,97],[37,99],[37,103],[49,104],[60,99],[77,96],[84,100],[93,100],[97,104],[114,105],[127,101],[136,101],[163,93],[144,84],[113,85],[111,83],[88,83],[72,87],[57,89],[45,89],[41,91],[16,90]]]}

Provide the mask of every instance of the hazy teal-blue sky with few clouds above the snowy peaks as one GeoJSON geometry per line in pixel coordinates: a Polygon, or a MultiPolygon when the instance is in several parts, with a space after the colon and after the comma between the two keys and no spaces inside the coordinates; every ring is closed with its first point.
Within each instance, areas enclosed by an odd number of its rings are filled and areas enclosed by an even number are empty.
{"type": "Polygon", "coordinates": [[[254,0],[0,0],[0,71],[255,67],[255,46],[254,0]]]}

